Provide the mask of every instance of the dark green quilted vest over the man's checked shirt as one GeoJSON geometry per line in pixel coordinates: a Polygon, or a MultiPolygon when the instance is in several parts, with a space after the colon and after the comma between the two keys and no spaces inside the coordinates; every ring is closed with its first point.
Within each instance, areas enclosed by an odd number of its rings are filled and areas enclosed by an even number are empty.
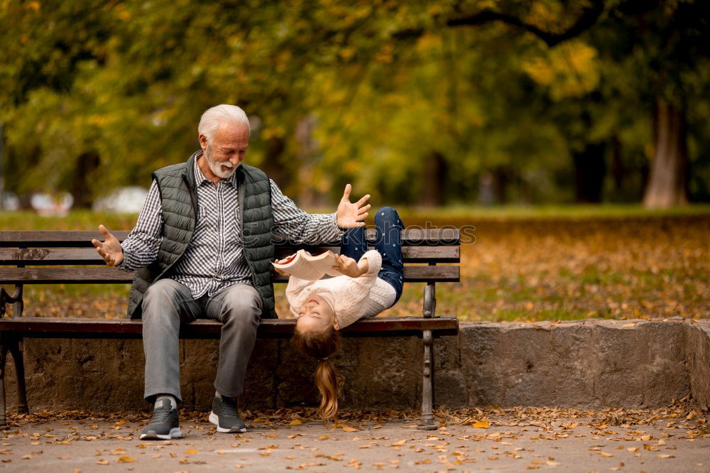
{"type": "MultiPolygon", "coordinates": [[[[132,319],[141,317],[141,302],[148,286],[159,279],[170,277],[170,269],[185,254],[195,232],[197,192],[193,166],[201,152],[197,151],[190,156],[187,163],[170,165],[153,173],[163,205],[163,242],[155,261],[146,268],[138,269],[133,275],[128,310],[132,319]]],[[[244,259],[251,270],[251,283],[261,295],[261,318],[274,319],[271,185],[266,174],[252,166],[241,164],[235,173],[238,179],[239,225],[244,259]]]]}

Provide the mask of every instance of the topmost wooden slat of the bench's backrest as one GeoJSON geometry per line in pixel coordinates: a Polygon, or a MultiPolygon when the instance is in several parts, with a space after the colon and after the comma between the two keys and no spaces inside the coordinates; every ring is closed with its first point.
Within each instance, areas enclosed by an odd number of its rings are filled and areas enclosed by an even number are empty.
{"type": "MultiPolygon", "coordinates": [[[[112,232],[114,237],[123,241],[128,237],[129,232],[112,232]]],[[[99,232],[0,232],[0,247],[18,248],[20,246],[26,248],[38,247],[72,247],[72,248],[88,248],[92,247],[91,240],[93,238],[103,239],[99,232]]],[[[441,228],[441,229],[405,229],[402,232],[404,245],[420,244],[420,245],[458,245],[460,238],[459,229],[456,228],[441,228]]],[[[375,231],[367,230],[367,239],[375,240],[375,231]]]]}

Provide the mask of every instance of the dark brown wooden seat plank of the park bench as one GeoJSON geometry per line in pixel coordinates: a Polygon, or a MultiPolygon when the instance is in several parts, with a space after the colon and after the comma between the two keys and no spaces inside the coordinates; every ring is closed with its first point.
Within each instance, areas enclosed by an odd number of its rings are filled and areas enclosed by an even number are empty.
{"type": "MultiPolygon", "coordinates": [[[[293,335],[293,319],[261,321],[257,337],[280,338],[293,335]]],[[[439,335],[455,335],[456,317],[373,317],[359,320],[342,330],[345,337],[416,336],[422,330],[434,330],[439,335]]],[[[182,325],[181,338],[219,338],[222,324],[214,320],[195,320],[182,325]]],[[[30,338],[141,338],[140,320],[72,319],[50,317],[5,317],[0,319],[0,332],[30,338]]]]}

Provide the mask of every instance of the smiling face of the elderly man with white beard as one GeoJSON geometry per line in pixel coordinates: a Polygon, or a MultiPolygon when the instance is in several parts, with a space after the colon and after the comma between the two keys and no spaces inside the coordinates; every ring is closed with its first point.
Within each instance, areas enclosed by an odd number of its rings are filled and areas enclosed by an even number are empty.
{"type": "Polygon", "coordinates": [[[249,129],[246,125],[226,122],[214,131],[212,140],[200,135],[200,146],[204,150],[209,170],[218,178],[229,179],[237,166],[244,161],[249,147],[249,129]]]}

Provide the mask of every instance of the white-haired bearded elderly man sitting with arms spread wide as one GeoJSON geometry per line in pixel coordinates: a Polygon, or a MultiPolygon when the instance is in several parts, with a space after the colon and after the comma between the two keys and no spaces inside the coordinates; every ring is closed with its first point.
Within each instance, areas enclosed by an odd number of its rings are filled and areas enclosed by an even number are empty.
{"type": "Polygon", "coordinates": [[[129,317],[143,317],[145,398],[154,404],[141,439],[182,437],[178,335],[180,322],[198,318],[223,324],[209,421],[218,432],[246,432],[236,398],[259,320],[276,317],[273,234],[303,244],[336,241],[342,229],[363,226],[370,207],[369,195],[351,203],[346,185],[337,212],[299,210],[266,174],[241,163],[250,128],[239,107],[212,107],[197,132],[201,150],[153,173],[129,237],[119,244],[99,225],[105,241],[92,241],[109,266],[137,270],[129,317]]]}

